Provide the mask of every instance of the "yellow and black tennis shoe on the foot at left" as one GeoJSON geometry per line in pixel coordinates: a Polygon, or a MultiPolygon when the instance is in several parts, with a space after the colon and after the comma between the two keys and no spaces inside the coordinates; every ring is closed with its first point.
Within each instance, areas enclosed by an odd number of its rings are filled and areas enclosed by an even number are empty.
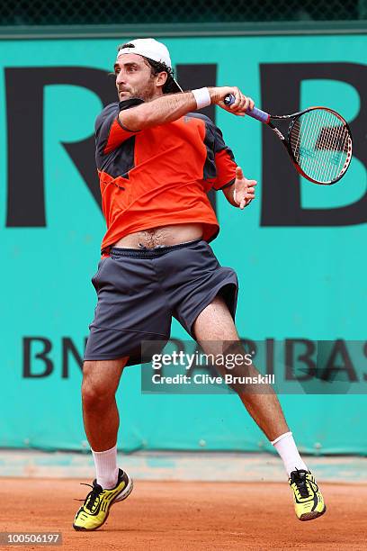
{"type": "MultiPolygon", "coordinates": [[[[93,481],[92,490],[88,493],[82,507],[77,511],[73,528],[76,530],[95,530],[100,528],[107,520],[111,506],[117,501],[126,500],[132,492],[132,479],[129,474],[119,469],[117,484],[111,490],[103,490],[103,487],[93,481]]],[[[82,501],[82,500],[80,500],[82,501]]]]}

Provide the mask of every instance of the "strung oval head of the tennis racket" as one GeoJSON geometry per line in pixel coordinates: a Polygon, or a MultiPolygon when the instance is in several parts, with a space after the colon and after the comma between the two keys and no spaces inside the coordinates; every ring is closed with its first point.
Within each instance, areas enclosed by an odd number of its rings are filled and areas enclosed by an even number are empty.
{"type": "Polygon", "coordinates": [[[320,183],[335,181],[351,159],[348,127],[327,109],[313,109],[298,117],[291,127],[289,142],[302,171],[320,183]]]}

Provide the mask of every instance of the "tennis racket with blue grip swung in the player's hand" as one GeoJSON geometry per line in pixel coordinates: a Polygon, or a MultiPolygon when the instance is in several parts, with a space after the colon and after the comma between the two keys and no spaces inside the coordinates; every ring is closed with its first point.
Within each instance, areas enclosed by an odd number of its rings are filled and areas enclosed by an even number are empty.
{"type": "MultiPolygon", "coordinates": [[[[235,103],[235,96],[226,95],[224,104],[235,103]]],[[[282,140],[291,161],[301,176],[313,184],[335,184],[345,175],[352,160],[352,134],[348,123],[327,107],[309,107],[289,115],[271,115],[254,107],[247,114],[267,124],[282,140]],[[291,120],[287,137],[272,120],[291,120]]]]}

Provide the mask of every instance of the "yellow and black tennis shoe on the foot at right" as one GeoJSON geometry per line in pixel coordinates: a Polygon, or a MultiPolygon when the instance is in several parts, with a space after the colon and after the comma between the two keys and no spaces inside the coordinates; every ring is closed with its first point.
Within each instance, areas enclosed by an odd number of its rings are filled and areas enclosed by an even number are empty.
{"type": "Polygon", "coordinates": [[[324,498],[309,471],[292,471],[289,483],[293,490],[294,509],[300,520],[317,519],[325,513],[327,507],[324,498]]]}

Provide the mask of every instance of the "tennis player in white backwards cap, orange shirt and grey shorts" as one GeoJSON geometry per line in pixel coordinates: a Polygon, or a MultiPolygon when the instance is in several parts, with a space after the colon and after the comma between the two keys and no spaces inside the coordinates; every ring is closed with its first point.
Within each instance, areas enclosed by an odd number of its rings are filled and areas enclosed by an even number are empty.
{"type": "MultiPolygon", "coordinates": [[[[206,343],[224,341],[245,353],[234,322],[237,276],[220,266],[209,245],[219,223],[207,193],[222,191],[243,210],[255,198],[256,182],[237,167],[219,128],[195,112],[217,104],[245,116],[254,102],[237,86],[183,93],[166,46],[153,39],[121,45],[114,72],[118,101],[95,122],[107,231],[92,279],[98,302],[82,384],[96,478],[76,512],[76,530],[100,528],[112,504],[132,490],[129,474],[117,465],[115,393],[124,366],[141,363],[141,341],[167,341],[175,316],[204,352],[206,343]],[[236,97],[230,107],[223,103],[228,94],[236,97]]],[[[297,517],[322,515],[323,497],[275,394],[235,390],[282,457],[297,517]]]]}

